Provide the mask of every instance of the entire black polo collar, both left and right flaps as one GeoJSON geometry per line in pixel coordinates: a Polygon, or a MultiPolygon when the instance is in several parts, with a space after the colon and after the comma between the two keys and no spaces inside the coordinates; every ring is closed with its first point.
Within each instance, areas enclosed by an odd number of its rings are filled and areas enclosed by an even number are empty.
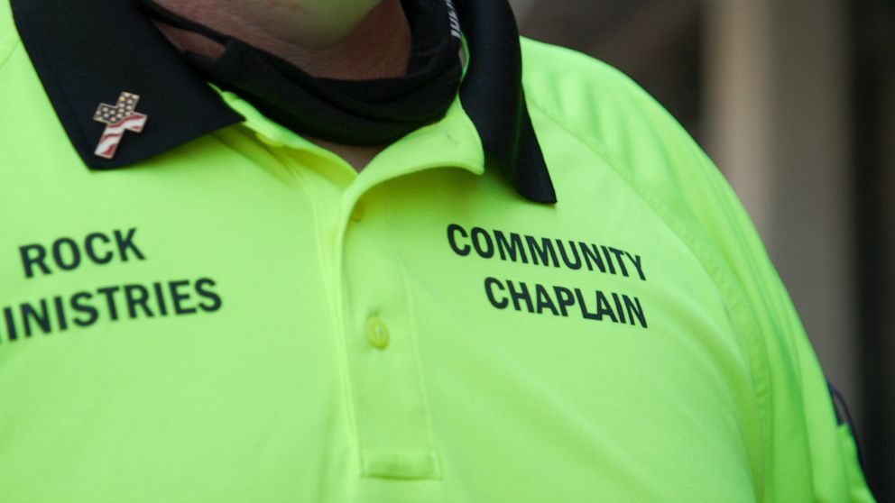
{"type": "MultiPolygon", "coordinates": [[[[91,169],[115,169],[170,151],[239,123],[236,114],[128,0],[11,0],[15,23],[43,87],[81,159],[91,169]],[[127,92],[149,117],[113,159],[94,152],[106,126],[94,120],[101,103],[127,92]]],[[[517,191],[555,203],[521,87],[521,53],[505,0],[458,5],[471,52],[460,101],[482,138],[489,164],[500,166],[517,191]]]]}

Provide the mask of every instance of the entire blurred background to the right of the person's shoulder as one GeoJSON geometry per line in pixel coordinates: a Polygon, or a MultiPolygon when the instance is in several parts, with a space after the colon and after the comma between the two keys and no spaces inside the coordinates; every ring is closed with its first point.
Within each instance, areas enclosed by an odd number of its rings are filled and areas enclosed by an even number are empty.
{"type": "Polygon", "coordinates": [[[895,0],[512,0],[645,87],[724,171],[895,501],[895,0]]]}

